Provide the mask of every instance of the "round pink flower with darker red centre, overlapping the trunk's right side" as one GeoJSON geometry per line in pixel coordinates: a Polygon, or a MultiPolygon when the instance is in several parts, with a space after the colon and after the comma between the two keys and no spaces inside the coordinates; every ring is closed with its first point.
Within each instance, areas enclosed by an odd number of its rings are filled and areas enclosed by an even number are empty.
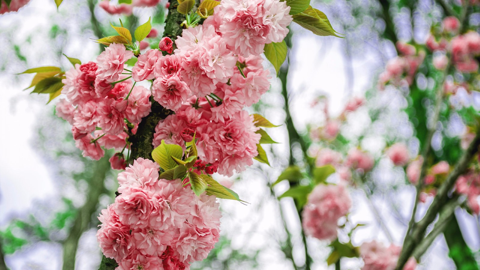
{"type": "Polygon", "coordinates": [[[175,76],[166,80],[155,80],[152,95],[160,105],[175,111],[192,96],[192,92],[185,82],[175,76]]]}

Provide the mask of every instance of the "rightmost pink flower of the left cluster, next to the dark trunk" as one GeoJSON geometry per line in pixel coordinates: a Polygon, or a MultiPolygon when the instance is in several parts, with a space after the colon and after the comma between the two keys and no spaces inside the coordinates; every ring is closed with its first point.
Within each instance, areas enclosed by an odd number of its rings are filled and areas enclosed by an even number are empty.
{"type": "Polygon", "coordinates": [[[150,90],[144,86],[135,86],[132,93],[128,97],[127,108],[125,109],[125,117],[130,123],[136,124],[142,121],[152,110],[152,102],[150,102],[150,90]]]}

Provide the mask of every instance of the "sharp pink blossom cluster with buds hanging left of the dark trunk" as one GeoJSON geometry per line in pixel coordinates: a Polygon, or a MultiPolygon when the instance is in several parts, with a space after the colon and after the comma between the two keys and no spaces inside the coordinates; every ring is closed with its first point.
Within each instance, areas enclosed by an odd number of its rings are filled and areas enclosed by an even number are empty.
{"type": "MultiPolygon", "coordinates": [[[[124,63],[132,56],[122,44],[113,43],[96,62],[75,64],[65,73],[62,94],[66,99],[57,103],[57,115],[72,124],[75,145],[84,156],[99,160],[104,155],[102,146],[125,148],[127,137],[151,111],[150,90],[134,86],[131,80],[121,81],[127,78],[122,74],[124,63]]],[[[121,159],[115,155],[110,161],[119,165],[121,159]]]]}

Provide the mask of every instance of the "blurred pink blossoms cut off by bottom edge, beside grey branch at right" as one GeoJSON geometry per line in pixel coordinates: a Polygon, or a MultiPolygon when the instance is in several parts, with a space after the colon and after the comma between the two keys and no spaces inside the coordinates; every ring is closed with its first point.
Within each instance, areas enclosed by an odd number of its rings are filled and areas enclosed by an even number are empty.
{"type": "MultiPolygon", "coordinates": [[[[363,258],[362,270],[394,270],[401,248],[391,244],[386,247],[382,243],[372,241],[360,246],[360,256],[363,258]]],[[[403,270],[415,270],[417,261],[411,257],[403,270]]]]}

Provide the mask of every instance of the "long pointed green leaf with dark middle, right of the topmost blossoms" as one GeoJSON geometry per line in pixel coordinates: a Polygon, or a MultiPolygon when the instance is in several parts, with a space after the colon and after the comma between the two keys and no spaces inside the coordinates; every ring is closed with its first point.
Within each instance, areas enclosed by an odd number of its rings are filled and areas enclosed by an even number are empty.
{"type": "Polygon", "coordinates": [[[293,15],[293,21],[303,28],[312,31],[315,35],[340,37],[336,35],[337,32],[332,28],[324,12],[314,9],[312,6],[309,6],[303,12],[293,15]]]}

